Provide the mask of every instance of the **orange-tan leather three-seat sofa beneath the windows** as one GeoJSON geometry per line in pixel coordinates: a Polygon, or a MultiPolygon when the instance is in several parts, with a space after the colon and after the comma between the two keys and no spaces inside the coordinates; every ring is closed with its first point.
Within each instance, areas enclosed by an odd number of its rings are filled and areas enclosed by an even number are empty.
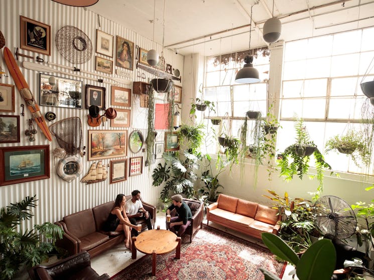
{"type": "Polygon", "coordinates": [[[207,224],[216,222],[225,227],[261,239],[261,233],[278,233],[281,216],[277,209],[236,197],[219,194],[217,202],[206,207],[207,224]]]}

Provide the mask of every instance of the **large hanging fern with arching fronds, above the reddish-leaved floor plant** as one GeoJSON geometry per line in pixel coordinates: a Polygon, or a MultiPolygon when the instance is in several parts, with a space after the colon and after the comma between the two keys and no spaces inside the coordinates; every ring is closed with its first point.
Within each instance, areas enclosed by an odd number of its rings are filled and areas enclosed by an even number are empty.
{"type": "MultiPolygon", "coordinates": [[[[294,175],[303,179],[303,176],[309,171],[310,156],[313,154],[317,174],[309,175],[309,177],[317,177],[319,184],[313,197],[313,199],[317,199],[323,191],[323,168],[331,170],[331,166],[325,161],[314,142],[310,140],[303,119],[296,119],[294,127],[297,135],[296,142],[288,146],[281,154],[281,158],[277,160],[278,167],[281,169],[281,176],[286,181],[290,181],[294,175]]],[[[331,175],[336,175],[336,173],[331,171],[331,175]]]]}

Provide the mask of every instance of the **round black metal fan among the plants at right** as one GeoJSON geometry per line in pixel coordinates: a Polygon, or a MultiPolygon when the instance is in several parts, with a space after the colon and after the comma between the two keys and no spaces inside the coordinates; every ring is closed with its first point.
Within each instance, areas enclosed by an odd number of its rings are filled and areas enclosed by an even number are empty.
{"type": "Polygon", "coordinates": [[[315,223],[323,234],[345,239],[356,229],[357,220],[352,208],[337,196],[325,195],[317,199],[313,214],[315,223]]]}

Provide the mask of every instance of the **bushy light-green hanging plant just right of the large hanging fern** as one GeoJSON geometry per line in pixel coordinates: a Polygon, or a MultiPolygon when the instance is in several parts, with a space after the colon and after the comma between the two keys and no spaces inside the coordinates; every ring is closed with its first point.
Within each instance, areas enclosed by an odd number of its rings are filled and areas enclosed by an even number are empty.
{"type": "Polygon", "coordinates": [[[370,164],[370,152],[363,142],[362,133],[353,129],[343,135],[335,135],[326,142],[326,152],[337,151],[347,154],[358,167],[358,160],[361,160],[365,166],[370,164]]]}

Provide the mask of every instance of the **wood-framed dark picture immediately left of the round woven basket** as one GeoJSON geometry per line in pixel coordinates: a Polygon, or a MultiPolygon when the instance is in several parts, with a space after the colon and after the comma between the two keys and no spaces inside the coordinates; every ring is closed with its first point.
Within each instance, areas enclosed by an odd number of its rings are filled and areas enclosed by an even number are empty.
{"type": "Polygon", "coordinates": [[[51,27],[21,16],[21,49],[51,55],[51,27]]]}

